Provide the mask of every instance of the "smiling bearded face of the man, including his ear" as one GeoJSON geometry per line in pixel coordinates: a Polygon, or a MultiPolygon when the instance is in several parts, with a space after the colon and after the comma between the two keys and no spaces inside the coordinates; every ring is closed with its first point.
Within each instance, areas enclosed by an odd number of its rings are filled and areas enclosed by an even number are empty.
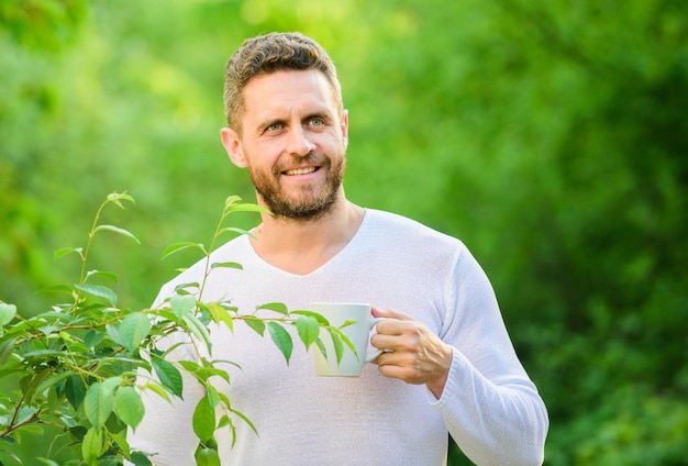
{"type": "Polygon", "coordinates": [[[348,119],[337,109],[318,70],[258,76],[244,88],[241,133],[224,129],[222,142],[274,215],[315,219],[343,199],[348,119]]]}

